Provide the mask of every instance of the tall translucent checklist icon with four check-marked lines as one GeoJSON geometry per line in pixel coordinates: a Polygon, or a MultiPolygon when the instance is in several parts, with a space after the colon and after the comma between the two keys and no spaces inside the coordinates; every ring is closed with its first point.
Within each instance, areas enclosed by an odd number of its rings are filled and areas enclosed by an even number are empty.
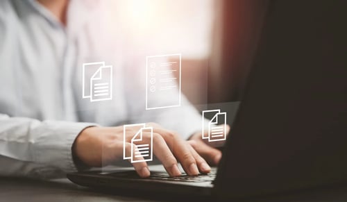
{"type": "Polygon", "coordinates": [[[146,57],[146,110],[180,106],[180,70],[180,53],[146,57]],[[156,101],[166,97],[167,102],[156,101]]]}

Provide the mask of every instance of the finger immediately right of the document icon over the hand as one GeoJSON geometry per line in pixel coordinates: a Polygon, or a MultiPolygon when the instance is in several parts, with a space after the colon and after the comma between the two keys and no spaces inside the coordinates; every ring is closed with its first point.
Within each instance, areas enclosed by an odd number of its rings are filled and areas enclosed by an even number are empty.
{"type": "Polygon", "coordinates": [[[153,134],[153,153],[162,162],[162,165],[170,176],[181,175],[175,156],[171,153],[164,138],[158,133],[153,134]]]}

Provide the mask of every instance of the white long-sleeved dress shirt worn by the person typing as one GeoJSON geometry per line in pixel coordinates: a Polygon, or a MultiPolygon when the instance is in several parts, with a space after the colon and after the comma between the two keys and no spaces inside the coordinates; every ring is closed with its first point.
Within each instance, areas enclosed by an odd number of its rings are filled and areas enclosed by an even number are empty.
{"type": "Polygon", "coordinates": [[[109,32],[101,2],[71,0],[62,26],[36,1],[0,1],[0,175],[75,171],[71,145],[87,126],[157,122],[183,138],[201,130],[201,115],[185,96],[180,107],[145,110],[149,52],[131,44],[121,26],[109,32]],[[82,99],[82,64],[99,61],[114,68],[113,99],[90,102],[82,99]]]}

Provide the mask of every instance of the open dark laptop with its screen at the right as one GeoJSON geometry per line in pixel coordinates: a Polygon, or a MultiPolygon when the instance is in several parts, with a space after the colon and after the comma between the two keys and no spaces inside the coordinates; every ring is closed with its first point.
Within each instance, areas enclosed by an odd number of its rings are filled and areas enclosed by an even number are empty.
{"type": "Polygon", "coordinates": [[[266,2],[246,90],[211,174],[170,178],[154,165],[150,178],[127,168],[67,178],[96,190],[217,199],[346,183],[347,1],[266,2]]]}

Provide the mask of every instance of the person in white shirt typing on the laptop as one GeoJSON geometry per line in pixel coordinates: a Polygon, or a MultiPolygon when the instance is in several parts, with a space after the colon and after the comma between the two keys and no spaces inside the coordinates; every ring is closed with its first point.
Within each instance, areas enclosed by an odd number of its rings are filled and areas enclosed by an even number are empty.
{"type": "MultiPolygon", "coordinates": [[[[130,54],[121,27],[110,34],[102,3],[0,2],[0,174],[51,178],[115,164],[123,157],[122,125],[145,121],[158,123],[147,124],[153,153],[170,176],[180,176],[178,162],[189,175],[208,173],[221,152],[201,140],[201,116],[184,96],[179,108],[144,110],[143,57],[130,54]],[[93,61],[115,68],[112,101],[82,99],[81,67],[93,61]]],[[[150,175],[146,162],[133,167],[150,175]]]]}

